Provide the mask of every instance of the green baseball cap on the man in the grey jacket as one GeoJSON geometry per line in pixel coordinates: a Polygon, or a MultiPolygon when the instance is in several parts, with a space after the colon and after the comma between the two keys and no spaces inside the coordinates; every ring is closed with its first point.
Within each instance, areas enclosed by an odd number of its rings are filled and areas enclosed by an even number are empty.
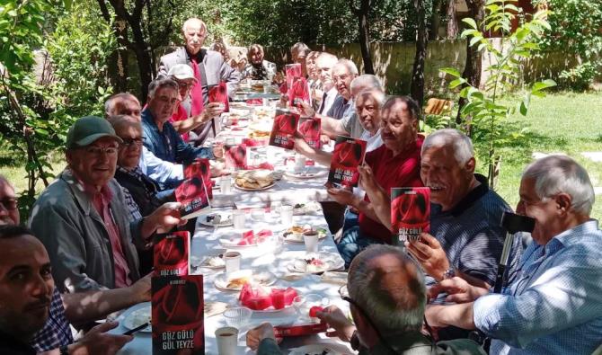
{"type": "Polygon", "coordinates": [[[114,138],[122,143],[121,138],[115,133],[115,129],[108,120],[98,116],[85,116],[76,120],[66,134],[66,148],[72,149],[82,146],[90,146],[96,140],[103,137],[114,138]]]}

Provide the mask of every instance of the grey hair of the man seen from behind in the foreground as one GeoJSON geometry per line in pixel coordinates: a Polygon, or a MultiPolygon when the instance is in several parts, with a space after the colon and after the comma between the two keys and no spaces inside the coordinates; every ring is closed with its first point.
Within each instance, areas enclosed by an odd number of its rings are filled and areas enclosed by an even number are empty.
{"type": "Polygon", "coordinates": [[[384,335],[406,330],[420,330],[427,303],[424,275],[418,265],[401,249],[391,245],[368,246],[353,260],[349,273],[350,298],[357,302],[384,335]],[[379,288],[382,270],[371,264],[376,257],[393,255],[403,270],[415,271],[403,288],[379,288]],[[407,266],[407,267],[406,267],[407,266]]]}

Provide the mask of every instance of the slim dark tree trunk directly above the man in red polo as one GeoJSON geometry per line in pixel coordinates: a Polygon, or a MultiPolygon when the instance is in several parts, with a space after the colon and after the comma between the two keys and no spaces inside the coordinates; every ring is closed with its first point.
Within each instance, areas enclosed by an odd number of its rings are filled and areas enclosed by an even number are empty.
{"type": "Polygon", "coordinates": [[[427,57],[427,44],[429,33],[427,32],[427,19],[422,0],[414,0],[416,8],[418,28],[416,31],[416,56],[412,69],[411,95],[422,107],[424,102],[424,62],[427,57]]]}

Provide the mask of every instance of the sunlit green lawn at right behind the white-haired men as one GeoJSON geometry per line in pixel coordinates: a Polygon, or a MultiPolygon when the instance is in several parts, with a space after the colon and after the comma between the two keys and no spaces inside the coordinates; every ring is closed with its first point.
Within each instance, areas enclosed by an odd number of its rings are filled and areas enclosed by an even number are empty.
{"type": "MultiPolygon", "coordinates": [[[[534,97],[527,116],[519,113],[509,124],[525,129],[525,138],[500,150],[501,171],[496,191],[512,207],[518,203],[518,185],[533,152],[564,153],[578,161],[589,173],[594,186],[602,186],[602,163],[595,163],[581,152],[602,151],[602,92],[550,93],[534,97]]],[[[487,169],[479,164],[484,174],[487,169]]],[[[591,217],[602,218],[602,195],[596,196],[591,217]]]]}

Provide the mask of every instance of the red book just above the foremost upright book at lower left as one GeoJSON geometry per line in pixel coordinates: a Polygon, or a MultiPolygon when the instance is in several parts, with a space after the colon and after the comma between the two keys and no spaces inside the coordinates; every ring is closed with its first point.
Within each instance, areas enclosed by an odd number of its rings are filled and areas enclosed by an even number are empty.
{"type": "Polygon", "coordinates": [[[185,276],[189,273],[190,232],[165,235],[153,246],[155,275],[185,276]]]}

